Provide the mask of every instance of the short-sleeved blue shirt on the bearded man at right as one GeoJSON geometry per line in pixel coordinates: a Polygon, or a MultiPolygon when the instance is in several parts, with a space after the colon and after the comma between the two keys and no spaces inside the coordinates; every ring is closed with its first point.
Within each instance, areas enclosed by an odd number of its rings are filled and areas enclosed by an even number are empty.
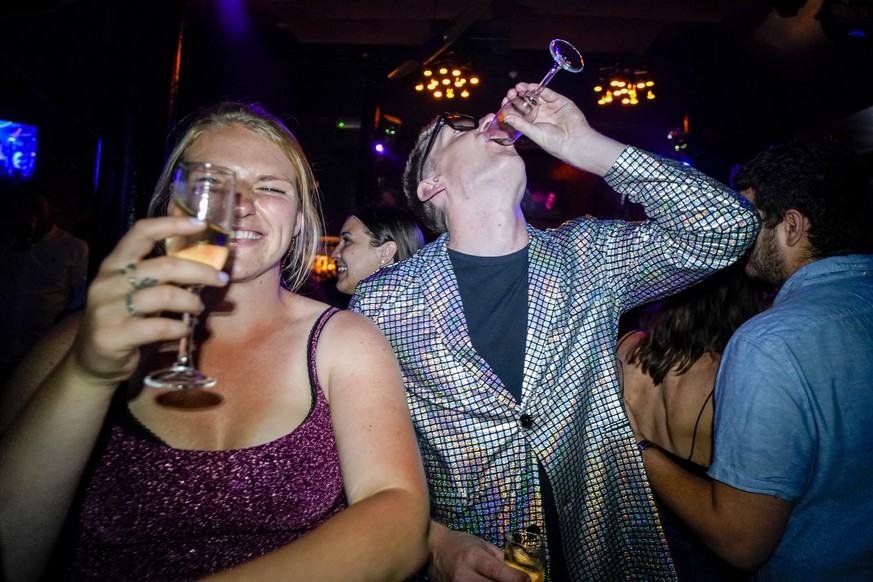
{"type": "Polygon", "coordinates": [[[709,475],[794,502],[762,580],[873,580],[873,256],[799,269],[722,357],[709,475]]]}

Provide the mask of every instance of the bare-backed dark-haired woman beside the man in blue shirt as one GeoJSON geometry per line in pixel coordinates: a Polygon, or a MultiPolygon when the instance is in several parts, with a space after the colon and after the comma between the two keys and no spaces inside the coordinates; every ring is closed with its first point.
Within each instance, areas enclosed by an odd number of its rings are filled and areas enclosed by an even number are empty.
{"type": "MultiPolygon", "coordinates": [[[[653,304],[643,311],[639,329],[618,341],[624,398],[643,434],[701,477],[712,462],[713,391],[721,354],[734,331],[767,304],[767,290],[748,279],[743,266],[740,261],[653,304]]],[[[680,580],[748,577],[660,509],[680,580]]]]}

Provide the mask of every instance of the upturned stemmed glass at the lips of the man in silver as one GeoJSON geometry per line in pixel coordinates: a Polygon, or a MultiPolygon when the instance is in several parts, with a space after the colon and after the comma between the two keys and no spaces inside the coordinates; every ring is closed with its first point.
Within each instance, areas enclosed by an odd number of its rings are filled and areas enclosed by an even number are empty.
{"type": "Polygon", "coordinates": [[[497,115],[494,116],[494,119],[485,128],[485,137],[489,140],[505,146],[514,144],[515,140],[521,136],[521,132],[504,121],[506,115],[514,113],[532,122],[537,116],[536,105],[539,101],[540,93],[549,84],[552,77],[561,69],[571,73],[578,73],[585,67],[582,55],[566,40],[554,39],[549,43],[549,52],[552,53],[552,58],[555,59],[554,66],[546,73],[546,76],[543,77],[543,80],[540,81],[537,87],[525,91],[521,95],[516,95],[500,108],[500,111],[497,112],[497,115]]]}

